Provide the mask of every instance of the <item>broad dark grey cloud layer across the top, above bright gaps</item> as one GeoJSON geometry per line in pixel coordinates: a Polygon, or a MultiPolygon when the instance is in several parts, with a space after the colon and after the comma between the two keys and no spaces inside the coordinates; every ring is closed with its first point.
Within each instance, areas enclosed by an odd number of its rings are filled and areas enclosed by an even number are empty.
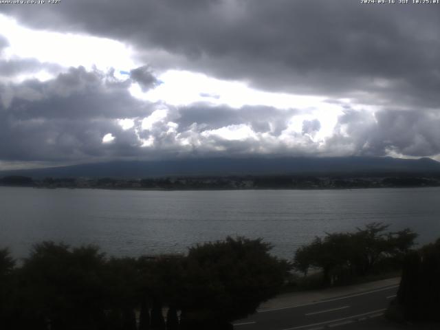
{"type": "MultiPolygon", "coordinates": [[[[380,97],[382,102],[397,102],[403,92],[406,102],[439,101],[434,93],[440,85],[435,6],[97,0],[18,7],[5,9],[21,23],[108,36],[142,51],[166,50],[182,56],[173,67],[245,79],[264,89],[380,97]]],[[[145,61],[154,66],[162,60],[145,61]]]]}

